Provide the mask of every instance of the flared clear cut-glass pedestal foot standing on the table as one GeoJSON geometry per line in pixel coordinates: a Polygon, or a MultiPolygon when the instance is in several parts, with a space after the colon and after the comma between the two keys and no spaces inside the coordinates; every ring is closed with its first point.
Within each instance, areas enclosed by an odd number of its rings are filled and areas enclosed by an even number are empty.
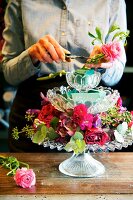
{"type": "Polygon", "coordinates": [[[95,160],[90,153],[73,154],[59,165],[59,170],[73,177],[96,177],[105,172],[102,163],[95,160]]]}

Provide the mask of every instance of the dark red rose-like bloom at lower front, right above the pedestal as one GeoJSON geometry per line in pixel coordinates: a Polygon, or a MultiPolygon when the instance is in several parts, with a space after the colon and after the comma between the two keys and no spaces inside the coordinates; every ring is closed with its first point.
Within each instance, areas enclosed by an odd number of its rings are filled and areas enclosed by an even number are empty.
{"type": "Polygon", "coordinates": [[[84,134],[86,144],[99,144],[104,145],[110,140],[108,134],[100,128],[91,128],[84,134]]]}

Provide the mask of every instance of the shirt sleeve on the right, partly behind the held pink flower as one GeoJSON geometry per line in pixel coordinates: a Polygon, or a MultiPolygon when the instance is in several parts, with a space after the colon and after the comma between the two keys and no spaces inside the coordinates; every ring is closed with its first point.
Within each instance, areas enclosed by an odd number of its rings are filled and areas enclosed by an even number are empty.
{"type": "MultiPolygon", "coordinates": [[[[116,23],[120,26],[122,31],[127,30],[126,20],[126,4],[124,0],[112,0],[110,9],[110,25],[116,23]]],[[[117,84],[122,75],[126,64],[126,54],[124,49],[124,41],[121,44],[122,54],[119,60],[112,63],[112,67],[106,69],[106,72],[102,75],[102,81],[107,86],[113,86],[117,84]]]]}

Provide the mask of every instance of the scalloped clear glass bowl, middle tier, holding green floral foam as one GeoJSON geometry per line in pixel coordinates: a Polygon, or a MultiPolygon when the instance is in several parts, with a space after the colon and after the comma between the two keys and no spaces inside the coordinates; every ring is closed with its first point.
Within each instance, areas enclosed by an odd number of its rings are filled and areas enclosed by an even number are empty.
{"type": "Polygon", "coordinates": [[[112,90],[107,87],[97,87],[90,93],[90,90],[85,93],[79,93],[71,89],[70,87],[61,86],[48,90],[47,97],[56,109],[65,111],[71,109],[79,103],[86,104],[88,106],[89,113],[97,114],[105,112],[109,108],[113,107],[120,94],[117,90],[112,90]],[[99,96],[96,96],[96,92],[99,96]],[[92,98],[92,93],[95,94],[92,98]]]}

